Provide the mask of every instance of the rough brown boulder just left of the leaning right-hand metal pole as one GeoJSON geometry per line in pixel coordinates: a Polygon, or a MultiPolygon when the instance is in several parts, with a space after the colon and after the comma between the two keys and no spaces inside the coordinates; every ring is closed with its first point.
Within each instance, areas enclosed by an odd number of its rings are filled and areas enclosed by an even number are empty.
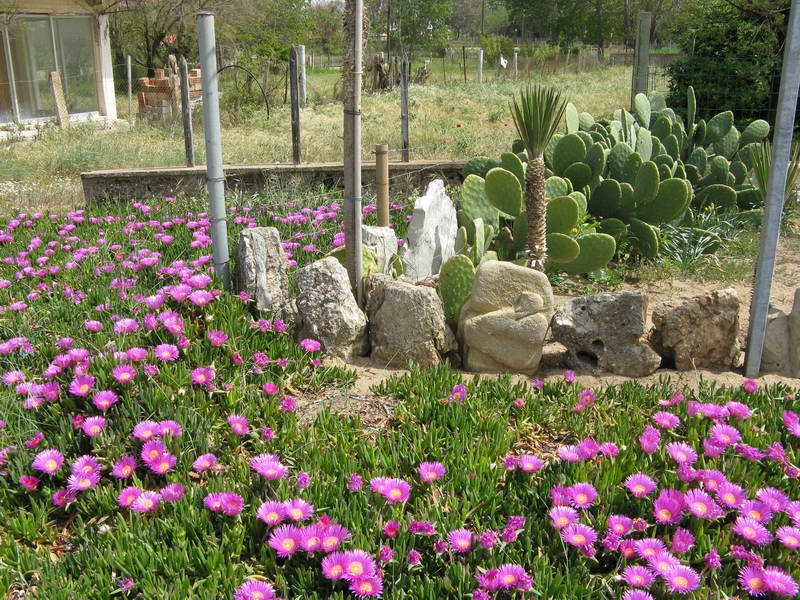
{"type": "Polygon", "coordinates": [[[653,309],[653,348],[679,371],[732,369],[739,362],[739,297],[728,288],[653,309]]]}

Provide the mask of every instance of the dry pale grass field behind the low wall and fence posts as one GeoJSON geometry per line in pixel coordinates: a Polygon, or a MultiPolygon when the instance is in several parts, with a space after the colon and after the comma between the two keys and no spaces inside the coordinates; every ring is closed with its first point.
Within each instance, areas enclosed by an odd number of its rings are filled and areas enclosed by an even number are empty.
{"type": "MultiPolygon", "coordinates": [[[[342,155],[342,108],[330,98],[338,74],[316,70],[309,79],[311,103],[302,110],[303,159],[338,161],[342,155]]],[[[630,68],[532,76],[531,82],[563,89],[580,110],[610,115],[629,102],[630,68]]],[[[411,97],[412,158],[467,158],[497,155],[515,137],[508,103],[526,81],[449,83],[413,86],[411,97]]],[[[225,162],[271,163],[291,159],[290,116],[287,106],[273,107],[271,117],[256,111],[223,124],[225,162]]],[[[397,91],[365,95],[363,99],[364,159],[376,143],[400,147],[400,103],[397,91]]],[[[195,128],[197,160],[204,161],[202,125],[195,128]]],[[[398,156],[395,154],[394,158],[398,156]]],[[[72,204],[79,194],[83,171],[181,165],[183,132],[179,125],[138,123],[110,132],[93,127],[45,131],[33,142],[0,145],[0,208],[34,208],[72,204]],[[53,190],[53,182],[59,182],[53,190]],[[62,183],[66,182],[66,183],[62,183]],[[45,186],[43,189],[41,186],[45,186]],[[59,186],[64,193],[59,194],[59,186]],[[53,197],[53,191],[55,196],[53,197]],[[60,196],[60,197],[59,197],[60,196]]]]}

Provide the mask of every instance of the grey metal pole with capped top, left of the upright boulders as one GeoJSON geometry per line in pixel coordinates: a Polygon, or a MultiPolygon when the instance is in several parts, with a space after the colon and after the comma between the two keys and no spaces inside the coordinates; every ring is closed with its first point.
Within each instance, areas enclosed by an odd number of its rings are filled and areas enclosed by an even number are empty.
{"type": "Polygon", "coordinates": [[[197,41],[203,76],[203,129],[206,138],[206,181],[211,213],[214,272],[226,290],[231,287],[228,223],[225,216],[225,173],[222,169],[222,131],[219,123],[219,77],[214,13],[197,13],[197,41]]]}

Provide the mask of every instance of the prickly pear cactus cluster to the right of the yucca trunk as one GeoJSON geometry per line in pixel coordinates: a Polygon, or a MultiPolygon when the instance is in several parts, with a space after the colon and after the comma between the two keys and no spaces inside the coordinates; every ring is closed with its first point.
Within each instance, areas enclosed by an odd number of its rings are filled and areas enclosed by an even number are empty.
{"type": "Polygon", "coordinates": [[[695,123],[692,88],[686,108],[684,122],[659,93],[638,94],[634,114],[619,109],[611,119],[570,106],[567,133],[545,152],[548,169],[588,198],[597,231],[626,240],[644,257],[658,255],[661,224],[691,225],[696,210],[758,205],[748,174],[769,124],[753,121],[740,133],[731,112],[695,123]]]}

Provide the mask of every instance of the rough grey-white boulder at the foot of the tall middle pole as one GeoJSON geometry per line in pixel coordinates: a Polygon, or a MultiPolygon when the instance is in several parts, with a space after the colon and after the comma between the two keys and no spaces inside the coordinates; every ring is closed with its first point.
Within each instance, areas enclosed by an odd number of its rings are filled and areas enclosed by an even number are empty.
{"type": "Polygon", "coordinates": [[[347,358],[367,351],[367,318],[350,289],[347,270],[329,256],[298,269],[298,336],[319,341],[328,354],[347,358]]]}

